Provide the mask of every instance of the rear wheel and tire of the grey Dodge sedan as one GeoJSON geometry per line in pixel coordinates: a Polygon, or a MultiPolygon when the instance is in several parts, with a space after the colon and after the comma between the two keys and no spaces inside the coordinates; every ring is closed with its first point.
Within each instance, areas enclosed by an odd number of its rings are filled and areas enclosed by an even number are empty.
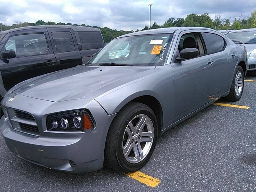
{"type": "Polygon", "coordinates": [[[241,98],[243,91],[244,91],[244,71],[241,66],[237,66],[235,75],[233,77],[232,85],[230,88],[230,92],[226,97],[224,97],[224,99],[228,101],[238,101],[241,98]],[[240,74],[240,78],[237,81],[236,77],[238,76],[238,74],[240,74]],[[237,82],[240,82],[240,83],[237,84],[237,82]],[[236,84],[238,85],[237,89],[236,89],[236,84]]]}

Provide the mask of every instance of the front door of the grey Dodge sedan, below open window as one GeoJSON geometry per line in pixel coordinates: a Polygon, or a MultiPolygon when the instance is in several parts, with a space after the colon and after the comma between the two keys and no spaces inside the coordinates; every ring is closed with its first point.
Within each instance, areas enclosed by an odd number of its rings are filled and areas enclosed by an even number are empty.
{"type": "Polygon", "coordinates": [[[196,58],[171,63],[174,77],[174,122],[209,103],[214,95],[215,64],[207,54],[205,41],[200,30],[188,30],[178,36],[176,58],[183,48],[199,50],[196,58]],[[189,38],[191,46],[189,46],[189,38]],[[194,42],[194,40],[196,42],[194,42]],[[183,47],[186,42],[186,47],[183,47]]]}

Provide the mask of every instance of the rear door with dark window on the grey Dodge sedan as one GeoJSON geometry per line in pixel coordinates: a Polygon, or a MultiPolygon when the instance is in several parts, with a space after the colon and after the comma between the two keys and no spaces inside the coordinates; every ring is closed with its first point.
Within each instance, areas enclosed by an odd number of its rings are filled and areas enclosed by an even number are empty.
{"type": "Polygon", "coordinates": [[[215,62],[215,93],[227,92],[230,89],[232,73],[227,73],[234,68],[238,61],[236,48],[226,41],[224,37],[214,31],[203,30],[207,39],[207,50],[212,54],[215,62]]]}

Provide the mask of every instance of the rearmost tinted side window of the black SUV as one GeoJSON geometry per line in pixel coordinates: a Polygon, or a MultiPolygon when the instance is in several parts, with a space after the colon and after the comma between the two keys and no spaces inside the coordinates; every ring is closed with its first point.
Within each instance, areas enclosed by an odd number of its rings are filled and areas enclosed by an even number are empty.
{"type": "Polygon", "coordinates": [[[101,49],[104,42],[100,32],[78,32],[82,49],[101,49]]]}

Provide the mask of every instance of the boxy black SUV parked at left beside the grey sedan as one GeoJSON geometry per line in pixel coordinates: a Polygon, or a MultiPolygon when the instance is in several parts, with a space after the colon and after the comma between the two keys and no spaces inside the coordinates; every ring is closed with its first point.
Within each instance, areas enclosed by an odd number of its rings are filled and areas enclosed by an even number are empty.
{"type": "Polygon", "coordinates": [[[0,32],[0,94],[15,84],[86,63],[103,46],[100,29],[43,25],[0,32]]]}

